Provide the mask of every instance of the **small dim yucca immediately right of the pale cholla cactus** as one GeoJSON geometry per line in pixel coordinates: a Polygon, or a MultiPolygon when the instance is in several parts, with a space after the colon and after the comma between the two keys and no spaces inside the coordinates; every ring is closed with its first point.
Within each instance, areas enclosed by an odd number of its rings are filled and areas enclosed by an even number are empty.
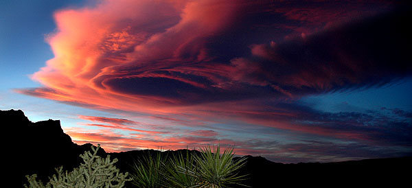
{"type": "Polygon", "coordinates": [[[135,161],[133,173],[130,173],[133,185],[152,188],[164,187],[165,160],[166,158],[158,152],[155,156],[148,153],[147,156],[135,161]]]}

